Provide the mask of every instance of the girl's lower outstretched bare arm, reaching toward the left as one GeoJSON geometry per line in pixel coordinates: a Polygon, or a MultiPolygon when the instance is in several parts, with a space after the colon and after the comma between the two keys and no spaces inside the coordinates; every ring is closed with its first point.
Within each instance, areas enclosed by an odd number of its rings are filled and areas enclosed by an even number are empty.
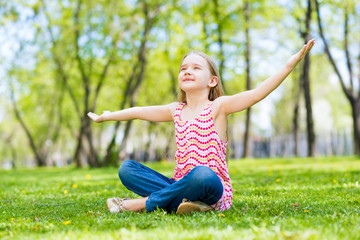
{"type": "Polygon", "coordinates": [[[178,103],[174,102],[161,106],[133,107],[116,112],[103,111],[100,116],[92,112],[89,112],[87,115],[97,123],[104,121],[127,121],[132,119],[169,122],[173,121],[173,114],[177,105],[178,103]]]}

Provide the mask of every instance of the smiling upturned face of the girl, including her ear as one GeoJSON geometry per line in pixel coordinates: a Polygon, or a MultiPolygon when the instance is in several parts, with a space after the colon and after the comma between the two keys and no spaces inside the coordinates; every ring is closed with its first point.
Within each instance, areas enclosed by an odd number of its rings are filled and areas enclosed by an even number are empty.
{"type": "Polygon", "coordinates": [[[216,86],[217,77],[211,75],[209,65],[203,57],[190,54],[180,66],[178,82],[180,89],[185,92],[209,90],[216,86]]]}

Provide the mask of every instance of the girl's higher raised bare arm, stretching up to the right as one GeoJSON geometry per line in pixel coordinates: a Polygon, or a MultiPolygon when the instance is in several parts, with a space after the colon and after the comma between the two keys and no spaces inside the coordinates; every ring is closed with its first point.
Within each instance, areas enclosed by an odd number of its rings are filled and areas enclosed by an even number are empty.
{"type": "Polygon", "coordinates": [[[255,89],[238,93],[233,96],[224,96],[219,98],[223,113],[228,115],[231,113],[240,112],[264,99],[285,80],[285,78],[292,72],[295,66],[305,57],[306,54],[308,54],[314,44],[314,39],[308,41],[299,52],[288,59],[285,67],[282,70],[263,81],[255,89]]]}

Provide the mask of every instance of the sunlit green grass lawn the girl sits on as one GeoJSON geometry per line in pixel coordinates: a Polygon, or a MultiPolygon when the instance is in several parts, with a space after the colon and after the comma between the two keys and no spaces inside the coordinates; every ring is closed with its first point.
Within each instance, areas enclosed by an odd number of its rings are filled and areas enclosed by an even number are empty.
{"type": "MultiPolygon", "coordinates": [[[[174,168],[149,166],[167,176],[174,168]]],[[[360,238],[359,158],[241,160],[229,169],[230,210],[189,216],[108,213],[106,198],[137,197],[115,168],[1,170],[0,239],[360,238]]]]}

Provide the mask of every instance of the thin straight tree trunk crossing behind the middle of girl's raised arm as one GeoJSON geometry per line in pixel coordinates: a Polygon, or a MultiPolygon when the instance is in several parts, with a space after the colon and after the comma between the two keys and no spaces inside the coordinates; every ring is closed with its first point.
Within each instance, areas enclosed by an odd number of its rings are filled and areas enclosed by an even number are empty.
{"type": "MultiPolygon", "coordinates": [[[[250,24],[250,5],[249,2],[245,2],[244,7],[245,12],[245,41],[246,41],[246,50],[245,50],[245,62],[246,62],[246,89],[251,89],[251,76],[250,76],[250,33],[249,33],[249,24],[250,24]]],[[[245,123],[245,134],[244,134],[244,152],[243,158],[248,158],[251,156],[250,151],[250,122],[251,122],[251,108],[246,110],[246,123],[245,123]]]]}

